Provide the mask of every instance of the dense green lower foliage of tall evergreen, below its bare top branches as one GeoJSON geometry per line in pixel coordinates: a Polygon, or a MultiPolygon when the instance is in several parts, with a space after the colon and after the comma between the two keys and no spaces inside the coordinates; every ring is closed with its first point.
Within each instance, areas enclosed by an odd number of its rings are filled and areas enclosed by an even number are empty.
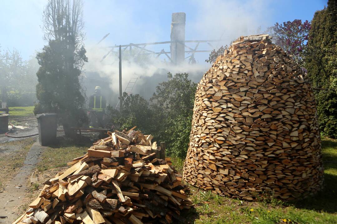
{"type": "MultiPolygon", "coordinates": [[[[79,55],[87,61],[85,50],[79,55]]],[[[80,69],[74,67],[74,52],[66,40],[50,41],[37,54],[40,68],[36,73],[38,84],[34,114],[54,112],[62,118],[75,118],[84,103],[79,76],[80,69]]],[[[68,120],[70,121],[70,119],[68,120]]]]}

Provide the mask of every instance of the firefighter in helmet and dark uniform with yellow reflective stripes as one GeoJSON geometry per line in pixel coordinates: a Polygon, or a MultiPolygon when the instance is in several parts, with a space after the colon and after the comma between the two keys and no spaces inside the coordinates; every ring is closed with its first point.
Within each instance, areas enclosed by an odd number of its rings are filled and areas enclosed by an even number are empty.
{"type": "Polygon", "coordinates": [[[95,93],[90,96],[89,107],[92,109],[89,112],[90,128],[103,127],[103,113],[106,107],[105,97],[101,94],[101,87],[95,87],[95,93]]]}

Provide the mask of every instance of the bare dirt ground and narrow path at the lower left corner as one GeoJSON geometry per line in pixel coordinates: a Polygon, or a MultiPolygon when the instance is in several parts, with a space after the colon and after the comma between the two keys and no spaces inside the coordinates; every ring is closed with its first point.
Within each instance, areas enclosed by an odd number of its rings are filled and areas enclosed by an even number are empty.
{"type": "MultiPolygon", "coordinates": [[[[29,127],[28,130],[11,132],[10,135],[26,136],[38,133],[37,120],[34,116],[13,116],[8,125],[29,127]]],[[[38,136],[11,138],[0,135],[0,223],[12,223],[17,218],[17,207],[22,204],[26,184],[32,168],[38,161],[41,148],[32,145],[38,136]]]]}

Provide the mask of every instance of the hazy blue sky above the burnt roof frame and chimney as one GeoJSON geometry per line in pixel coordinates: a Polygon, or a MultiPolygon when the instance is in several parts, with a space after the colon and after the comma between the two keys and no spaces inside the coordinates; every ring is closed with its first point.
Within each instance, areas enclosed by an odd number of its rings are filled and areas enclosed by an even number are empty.
{"type": "MultiPolygon", "coordinates": [[[[0,46],[19,50],[24,59],[40,50],[42,11],[47,0],[0,0],[0,46]]],[[[84,0],[86,46],[170,40],[171,14],[186,13],[186,40],[224,39],[224,43],[287,20],[311,20],[326,0],[112,1],[84,0]]],[[[222,44],[222,43],[221,43],[222,44]]],[[[160,50],[160,46],[154,49],[160,50]]],[[[166,46],[167,48],[167,46],[166,46]]],[[[203,47],[201,47],[202,49],[203,47]]],[[[205,48],[205,46],[204,46],[205,48]]],[[[206,47],[207,48],[207,47],[206,47]]],[[[204,56],[199,56],[200,61],[204,56]]],[[[90,58],[89,58],[90,60],[90,58]]]]}

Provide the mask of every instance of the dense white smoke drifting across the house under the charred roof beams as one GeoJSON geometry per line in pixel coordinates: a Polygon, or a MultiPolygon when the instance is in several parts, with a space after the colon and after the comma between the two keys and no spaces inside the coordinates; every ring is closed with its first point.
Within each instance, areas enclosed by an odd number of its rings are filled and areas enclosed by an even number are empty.
{"type": "MultiPolygon", "coordinates": [[[[87,56],[89,61],[85,65],[85,74],[99,75],[105,82],[109,82],[111,90],[118,95],[119,93],[119,58],[118,48],[114,52],[109,53],[103,60],[103,55],[107,54],[111,49],[102,47],[89,47],[87,56]]],[[[153,55],[143,55],[141,51],[134,49],[130,57],[129,52],[122,52],[122,86],[123,91],[128,82],[133,78],[138,78],[132,93],[140,93],[145,98],[150,98],[155,91],[158,83],[167,80],[167,73],[189,73],[190,78],[198,82],[201,75],[207,70],[209,65],[182,63],[172,65],[170,61],[156,58],[153,55]],[[136,51],[136,52],[134,52],[136,51]],[[139,54],[137,54],[139,53],[139,54]]],[[[96,77],[97,78],[97,77],[96,77]]],[[[134,81],[134,80],[133,80],[134,81]]],[[[132,86],[131,84],[129,86],[132,86]]],[[[117,98],[116,95],[116,98],[117,98]]]]}

